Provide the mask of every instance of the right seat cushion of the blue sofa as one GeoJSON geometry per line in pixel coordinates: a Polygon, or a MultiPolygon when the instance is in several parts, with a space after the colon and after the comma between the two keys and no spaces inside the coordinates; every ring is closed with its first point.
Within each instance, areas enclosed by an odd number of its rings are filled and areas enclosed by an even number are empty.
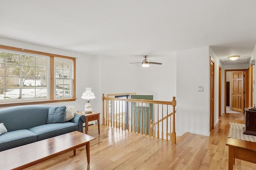
{"type": "Polygon", "coordinates": [[[37,127],[32,127],[29,128],[28,130],[35,133],[37,135],[37,140],[41,141],[44,139],[48,139],[50,137],[55,137],[58,135],[63,135],[65,133],[70,133],[72,131],[77,131],[78,125],[72,122],[51,123],[37,127]]]}

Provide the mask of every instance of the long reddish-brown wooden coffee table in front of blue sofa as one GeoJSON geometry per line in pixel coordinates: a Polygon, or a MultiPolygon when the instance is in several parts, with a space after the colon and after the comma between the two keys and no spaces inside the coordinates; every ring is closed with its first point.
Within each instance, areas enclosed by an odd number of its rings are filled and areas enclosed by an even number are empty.
{"type": "Polygon", "coordinates": [[[42,141],[23,145],[0,152],[0,169],[24,169],[45,160],[54,158],[86,146],[87,163],[90,163],[90,141],[96,139],[84,133],[74,131],[42,141]]]}

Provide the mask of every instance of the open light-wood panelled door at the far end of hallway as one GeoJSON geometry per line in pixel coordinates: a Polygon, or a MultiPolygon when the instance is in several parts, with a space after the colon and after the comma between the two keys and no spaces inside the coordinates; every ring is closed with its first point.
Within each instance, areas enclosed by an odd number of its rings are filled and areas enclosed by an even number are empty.
{"type": "Polygon", "coordinates": [[[244,71],[232,72],[231,76],[232,110],[244,113],[244,71]]]}

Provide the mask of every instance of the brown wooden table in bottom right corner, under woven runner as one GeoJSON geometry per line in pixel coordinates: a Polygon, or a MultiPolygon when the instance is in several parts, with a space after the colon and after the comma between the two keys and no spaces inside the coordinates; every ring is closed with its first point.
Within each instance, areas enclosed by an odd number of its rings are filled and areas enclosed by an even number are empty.
{"type": "Polygon", "coordinates": [[[228,138],[228,170],[233,170],[235,158],[256,164],[256,142],[228,138]]]}

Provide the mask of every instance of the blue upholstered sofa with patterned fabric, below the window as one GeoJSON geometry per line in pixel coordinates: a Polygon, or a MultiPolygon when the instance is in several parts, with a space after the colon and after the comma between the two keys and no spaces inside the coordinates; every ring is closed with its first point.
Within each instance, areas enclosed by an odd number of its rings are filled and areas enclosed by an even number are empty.
{"type": "Polygon", "coordinates": [[[74,114],[73,119],[64,120],[64,123],[49,123],[50,107],[56,106],[28,105],[0,109],[0,123],[4,123],[8,131],[0,135],[0,152],[72,131],[83,132],[84,115],[74,114]]]}

